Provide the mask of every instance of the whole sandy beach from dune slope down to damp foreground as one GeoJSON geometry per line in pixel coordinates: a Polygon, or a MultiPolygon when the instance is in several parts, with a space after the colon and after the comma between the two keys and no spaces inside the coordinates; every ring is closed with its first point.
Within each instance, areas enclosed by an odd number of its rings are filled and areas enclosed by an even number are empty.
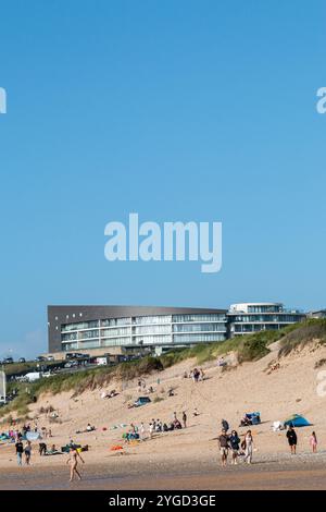
{"type": "MultiPolygon", "coordinates": [[[[78,488],[214,489],[227,488],[230,481],[233,487],[238,485],[239,488],[326,488],[326,397],[319,397],[316,390],[317,374],[323,368],[314,368],[316,362],[326,358],[326,348],[310,346],[292,353],[280,359],[279,369],[267,375],[266,368],[276,356],[275,350],[256,363],[246,363],[227,371],[222,371],[216,363],[206,364],[206,379],[198,383],[183,378],[184,371],[189,371],[196,362],[183,362],[147,377],[147,386],[152,385],[155,390],[151,399],[164,400],[138,409],[127,409],[127,403],[139,395],[137,381],[133,381],[123,386],[111,383],[105,390],[115,388],[121,392],[109,400],[101,399],[103,390],[100,389],[77,398],[72,398],[72,392],[42,397],[30,406],[30,415],[37,417],[39,427],[51,427],[53,438],[46,440],[48,446],[61,447],[70,439],[89,444],[89,451],[83,453],[85,481],[74,484],[78,488]],[[175,389],[175,397],[167,397],[170,387],[175,389]],[[50,424],[45,414],[38,414],[40,406],[50,404],[59,413],[58,424],[50,424]],[[192,415],[195,407],[200,413],[197,417],[192,415]],[[110,450],[111,446],[122,442],[122,432],[126,431],[126,428],[112,429],[114,425],[134,423],[139,426],[143,422],[148,427],[151,418],[170,423],[174,411],[178,417],[186,411],[186,429],[159,434],[136,446],[123,444],[123,454],[110,450]],[[225,473],[218,466],[214,439],[220,434],[221,419],[226,418],[231,428],[243,434],[247,429],[238,428],[239,419],[251,411],[260,411],[262,418],[261,425],[252,427],[255,463],[251,467],[229,466],[225,473]],[[288,453],[285,432],[271,429],[272,422],[283,420],[292,413],[303,414],[314,425],[297,430],[296,458],[288,453]],[[97,430],[75,434],[88,423],[97,430]],[[102,430],[103,427],[106,430],[102,430]],[[313,429],[318,438],[316,455],[310,454],[309,438],[313,429]]],[[[40,458],[35,443],[33,466],[17,468],[14,448],[2,444],[0,487],[9,488],[13,476],[20,472],[28,488],[65,488],[65,461],[66,455],[40,458]]]]}

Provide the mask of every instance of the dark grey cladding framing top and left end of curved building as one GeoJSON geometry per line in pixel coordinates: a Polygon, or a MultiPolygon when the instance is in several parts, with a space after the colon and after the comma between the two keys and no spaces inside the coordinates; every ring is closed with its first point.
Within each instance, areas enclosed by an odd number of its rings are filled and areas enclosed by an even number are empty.
{"type": "Polygon", "coordinates": [[[158,306],[48,306],[49,352],[61,352],[61,326],[77,321],[151,315],[226,314],[227,309],[158,306]],[[82,313],[82,317],[80,317],[82,313]],[[75,315],[75,317],[73,317],[75,315]],[[68,316],[68,318],[66,318],[68,316]],[[58,320],[55,320],[58,318],[58,320]],[[58,329],[57,329],[58,328],[58,329]]]}

